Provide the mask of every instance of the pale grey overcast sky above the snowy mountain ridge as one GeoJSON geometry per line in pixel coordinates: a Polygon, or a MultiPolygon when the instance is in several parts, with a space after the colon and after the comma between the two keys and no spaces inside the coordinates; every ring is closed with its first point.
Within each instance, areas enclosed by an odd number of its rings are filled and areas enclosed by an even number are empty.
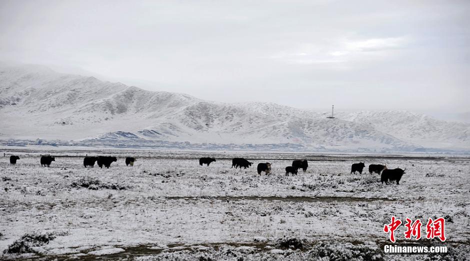
{"type": "Polygon", "coordinates": [[[470,1],[0,0],[0,60],[298,108],[469,111],[470,1]]]}

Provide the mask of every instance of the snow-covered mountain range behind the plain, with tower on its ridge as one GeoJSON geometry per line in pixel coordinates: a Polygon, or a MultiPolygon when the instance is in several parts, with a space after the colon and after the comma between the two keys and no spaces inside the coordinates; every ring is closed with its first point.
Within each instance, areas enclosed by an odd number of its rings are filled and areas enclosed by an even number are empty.
{"type": "Polygon", "coordinates": [[[37,65],[0,64],[0,138],[302,144],[350,150],[470,149],[470,124],[406,111],[339,113],[273,103],[218,103],[37,65]]]}

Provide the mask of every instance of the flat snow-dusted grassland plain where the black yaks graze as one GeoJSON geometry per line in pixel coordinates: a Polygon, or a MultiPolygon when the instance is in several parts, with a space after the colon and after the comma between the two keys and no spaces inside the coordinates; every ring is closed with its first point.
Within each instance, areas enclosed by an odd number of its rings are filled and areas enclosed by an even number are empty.
{"type": "MultiPolygon", "coordinates": [[[[21,159],[16,166],[0,160],[3,260],[470,258],[468,158],[364,157],[364,172],[352,175],[360,158],[317,157],[305,173],[286,177],[291,158],[277,154],[252,154],[246,157],[251,168],[235,170],[230,155],[201,167],[196,154],[129,152],[137,161],[126,167],[121,152],[109,169],[85,169],[82,153],[56,152],[64,157],[50,168],[40,166],[38,153],[8,153],[21,159]],[[272,174],[259,176],[256,165],[266,161],[272,174]],[[382,185],[368,164],[406,168],[406,174],[400,185],[382,185]],[[445,217],[450,253],[383,255],[382,230],[392,215],[421,219],[424,238],[427,219],[445,217]],[[26,234],[50,240],[29,243],[20,251],[26,253],[3,253],[26,234]],[[294,243],[286,248],[288,239],[294,243]]],[[[407,242],[403,233],[402,225],[397,243],[407,242]]]]}

